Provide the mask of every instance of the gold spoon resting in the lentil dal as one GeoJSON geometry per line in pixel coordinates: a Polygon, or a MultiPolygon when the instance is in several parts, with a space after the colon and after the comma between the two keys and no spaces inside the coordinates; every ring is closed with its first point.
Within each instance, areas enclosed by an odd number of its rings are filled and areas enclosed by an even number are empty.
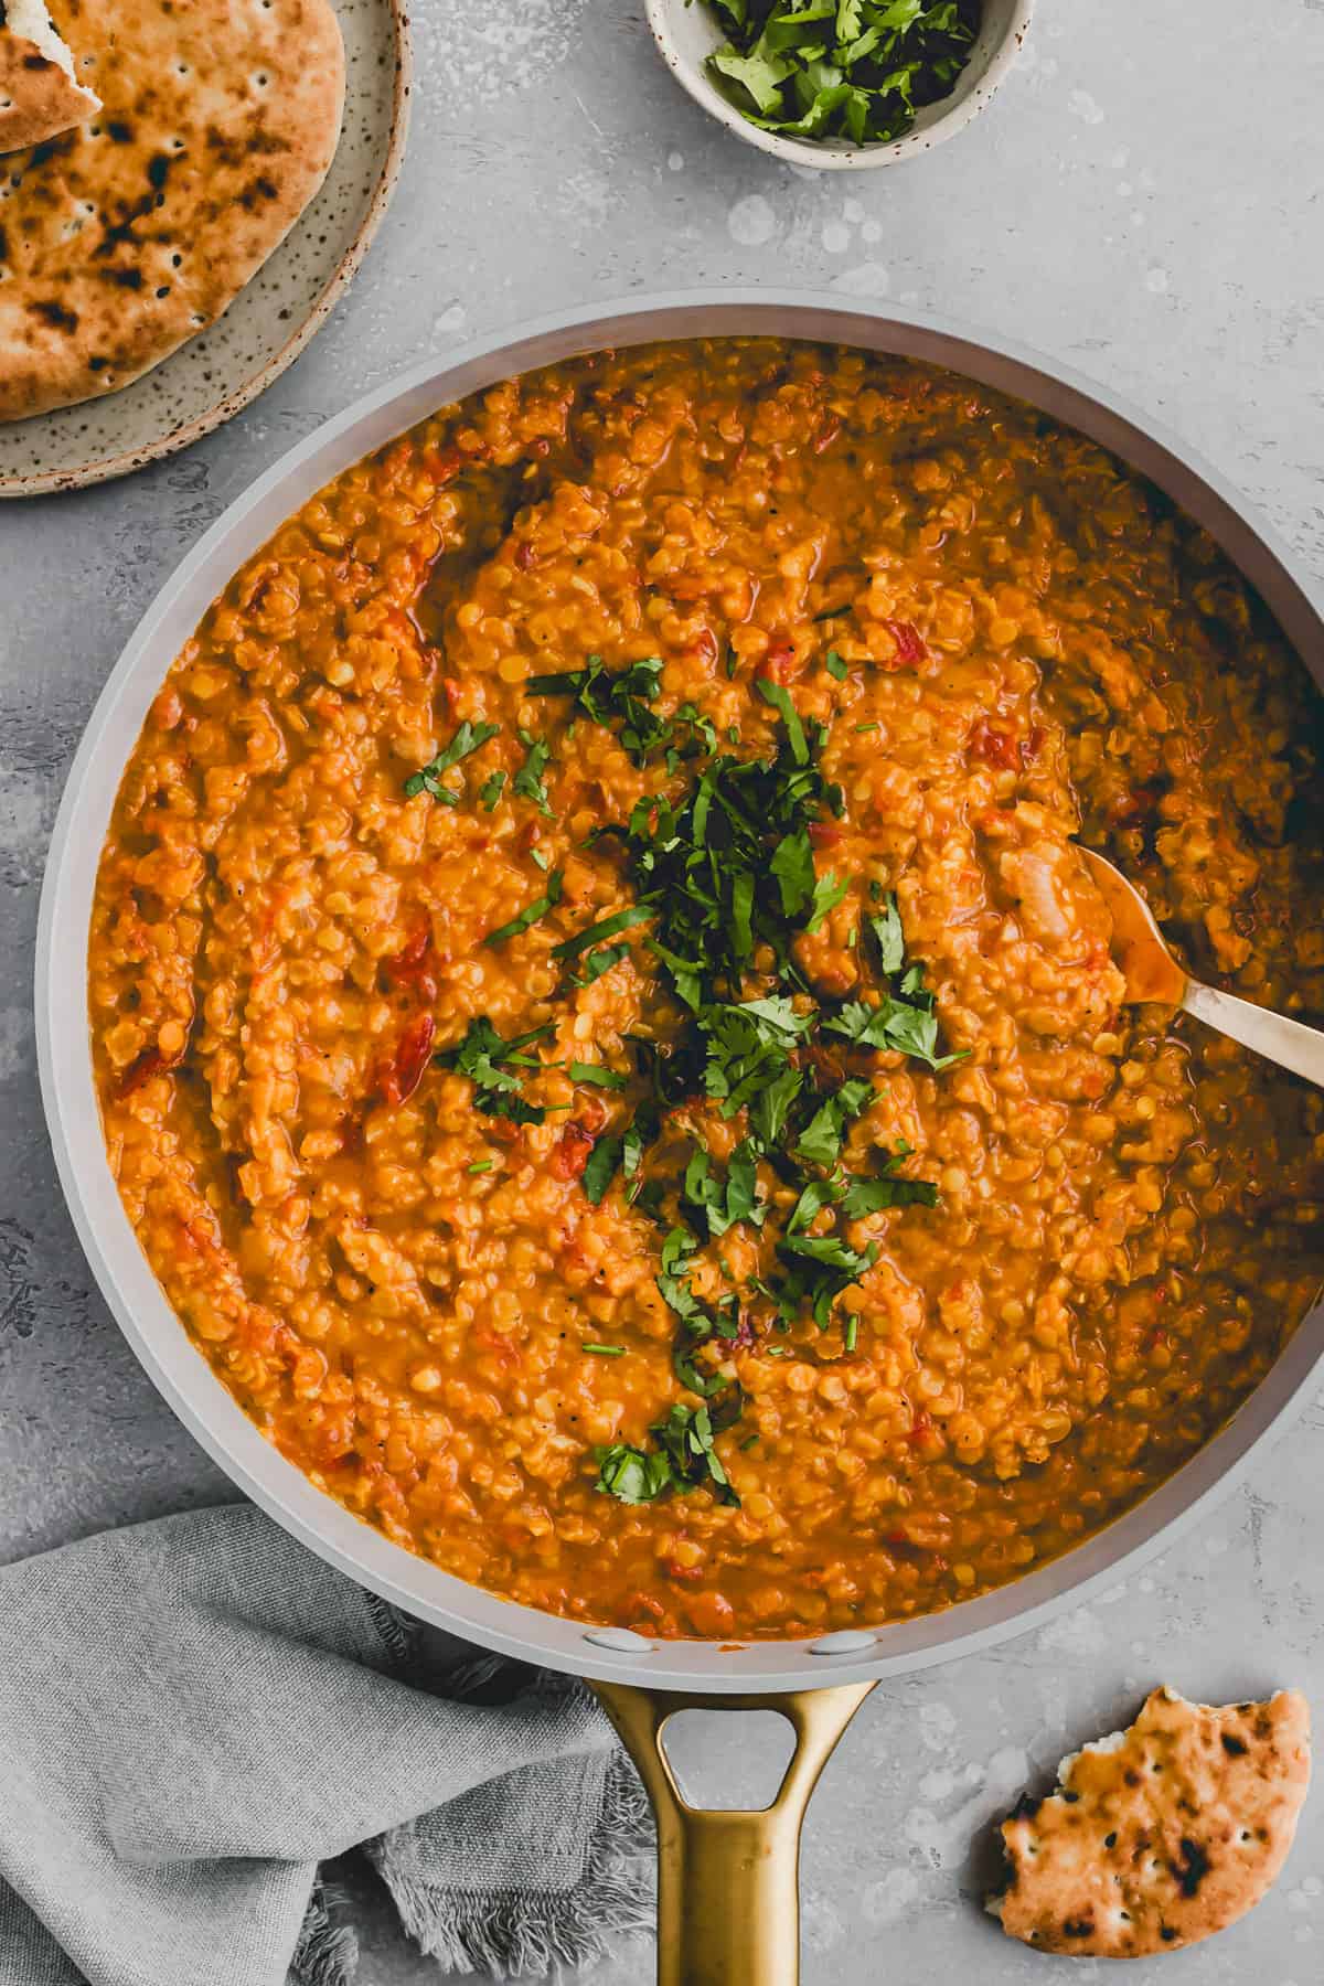
{"type": "Polygon", "coordinates": [[[1127,999],[1181,1007],[1197,1021],[1217,1027],[1221,1035],[1231,1035],[1245,1049],[1255,1049],[1257,1055],[1264,1055],[1270,1063],[1278,1063],[1324,1088],[1324,1033],[1320,1029],[1306,1027],[1304,1021],[1288,1021],[1284,1013],[1270,1013],[1266,1007],[1257,1007],[1255,1001],[1237,999],[1233,993],[1219,993],[1217,987],[1189,979],[1163,943],[1153,914],[1135,884],[1127,882],[1094,848],[1080,848],[1080,854],[1112,914],[1112,955],[1125,977],[1127,999]]]}

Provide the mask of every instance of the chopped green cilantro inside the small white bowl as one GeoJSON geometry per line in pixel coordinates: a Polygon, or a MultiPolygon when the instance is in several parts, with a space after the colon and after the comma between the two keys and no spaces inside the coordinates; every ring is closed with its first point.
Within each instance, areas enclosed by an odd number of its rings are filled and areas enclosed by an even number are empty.
{"type": "Polygon", "coordinates": [[[877,145],[951,95],[979,0],[703,0],[730,40],[709,73],[742,117],[786,137],[877,145]]]}

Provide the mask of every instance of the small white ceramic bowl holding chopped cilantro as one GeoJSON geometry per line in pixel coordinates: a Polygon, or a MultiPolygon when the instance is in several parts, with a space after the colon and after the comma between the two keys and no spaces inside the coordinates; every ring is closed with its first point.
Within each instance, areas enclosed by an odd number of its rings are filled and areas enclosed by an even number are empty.
{"type": "Polygon", "coordinates": [[[703,103],[705,111],[725,123],[728,131],[786,165],[852,173],[871,165],[917,159],[933,145],[963,131],[971,117],[983,111],[1016,60],[1030,26],[1034,0],[983,0],[979,36],[953,93],[919,111],[905,137],[873,145],[852,145],[848,139],[782,137],[778,131],[762,131],[728,103],[705,70],[705,60],[727,40],[705,0],[691,0],[691,4],[687,0],[645,0],[645,6],[663,62],[689,89],[695,103],[703,103]]]}

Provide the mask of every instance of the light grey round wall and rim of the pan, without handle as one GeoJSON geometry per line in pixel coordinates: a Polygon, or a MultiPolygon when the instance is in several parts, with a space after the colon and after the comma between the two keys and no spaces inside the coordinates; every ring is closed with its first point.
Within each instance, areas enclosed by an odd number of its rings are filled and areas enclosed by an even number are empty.
{"type": "Polygon", "coordinates": [[[865,310],[830,292],[711,290],[597,302],[425,359],[308,435],[204,532],[109,675],[66,782],[42,884],[36,1039],[60,1182],[101,1293],[163,1398],[238,1488],[349,1579],[405,1613],[526,1662],[663,1690],[752,1694],[863,1682],[947,1662],[1040,1627],[1133,1573],[1227,1493],[1320,1384],[1324,1305],[1233,1420],[1175,1476],[1074,1551],[945,1613],[810,1640],[645,1640],[500,1599],[445,1573],[316,1490],[248,1420],[195,1348],[139,1249],[105,1156],[87,1031],[87,922],[123,765],[169,665],[238,566],[330,477],[437,407],[512,373],[655,338],[766,334],[951,365],[1090,435],[1179,502],[1266,600],[1324,689],[1320,598],[1233,487],[1118,395],[1012,340],[943,318],[865,310]]]}

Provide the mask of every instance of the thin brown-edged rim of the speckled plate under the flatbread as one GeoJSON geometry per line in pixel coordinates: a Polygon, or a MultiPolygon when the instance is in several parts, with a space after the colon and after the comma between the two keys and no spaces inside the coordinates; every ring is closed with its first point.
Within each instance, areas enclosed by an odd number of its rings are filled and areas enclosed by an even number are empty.
{"type": "MultiPolygon", "coordinates": [[[[204,413],[197,413],[191,421],[185,421],[183,427],[171,427],[167,433],[159,435],[157,441],[149,441],[145,447],[123,449],[119,455],[107,455],[105,461],[85,463],[81,469],[44,469],[32,477],[0,477],[0,498],[54,496],[62,491],[89,489],[93,483],[113,483],[115,477],[133,475],[135,469],[145,469],[147,463],[159,463],[167,455],[177,455],[179,449],[193,447],[193,443],[200,441],[202,435],[214,433],[214,429],[234,419],[236,413],[242,413],[244,407],[248,407],[258,393],[266,393],[268,385],[274,379],[280,379],[282,371],[286,371],[288,365],[294,365],[296,357],[306,350],[306,346],[312,344],[343,292],[357,276],[363,256],[367,254],[371,240],[381,226],[383,214],[391,205],[401,165],[405,161],[405,141],[409,137],[409,99],[413,91],[413,40],[409,34],[405,0],[389,0],[389,6],[395,34],[395,87],[391,95],[387,155],[381,163],[381,173],[377,175],[377,185],[363,220],[359,222],[357,234],[335,264],[326,288],[300,328],[286,338],[284,346],[274,352],[264,365],[258,365],[256,373],[236,385],[230,393],[224,393],[214,407],[208,407],[204,413]]],[[[179,350],[183,352],[185,346],[179,346],[179,350]]],[[[173,355],[175,354],[171,354],[171,357],[173,355]]],[[[137,381],[131,381],[125,391],[133,391],[133,385],[137,385],[137,381]]],[[[105,401],[111,397],[113,395],[107,393],[105,401]]],[[[89,401],[87,405],[101,403],[103,401],[89,401]]]]}

